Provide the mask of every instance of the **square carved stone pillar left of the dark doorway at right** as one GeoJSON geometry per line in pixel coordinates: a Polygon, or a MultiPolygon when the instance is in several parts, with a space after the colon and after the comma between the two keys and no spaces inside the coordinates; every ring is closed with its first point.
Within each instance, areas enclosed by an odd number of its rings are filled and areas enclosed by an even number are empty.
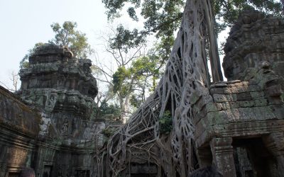
{"type": "Polygon", "coordinates": [[[210,142],[213,164],[224,177],[236,177],[231,137],[213,138],[210,142]]]}

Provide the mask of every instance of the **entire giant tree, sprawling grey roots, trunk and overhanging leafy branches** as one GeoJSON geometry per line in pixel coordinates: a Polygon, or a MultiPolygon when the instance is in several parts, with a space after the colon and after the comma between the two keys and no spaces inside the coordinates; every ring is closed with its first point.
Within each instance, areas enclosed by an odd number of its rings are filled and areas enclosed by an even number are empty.
{"type": "MultiPolygon", "coordinates": [[[[133,154],[145,154],[141,159],[146,161],[145,164],[147,162],[157,164],[160,169],[163,169],[161,176],[190,176],[190,173],[200,165],[197,159],[196,122],[194,122],[195,115],[198,116],[200,111],[195,111],[192,105],[195,105],[200,98],[204,98],[205,102],[208,101],[210,76],[207,59],[210,57],[211,62],[212,56],[217,55],[215,31],[212,27],[218,20],[218,15],[222,20],[220,24],[226,24],[226,26],[231,26],[232,20],[236,18],[234,13],[239,13],[241,9],[267,8],[263,10],[263,13],[273,11],[280,15],[280,4],[275,1],[270,1],[271,4],[268,6],[268,1],[261,0],[220,0],[212,2],[215,12],[215,18],[212,18],[212,6],[208,4],[208,1],[210,0],[187,0],[185,15],[177,18],[178,23],[182,19],[181,28],[170,57],[167,57],[168,64],[163,78],[153,94],[131,115],[126,125],[123,125],[109,139],[105,149],[99,154],[100,156],[98,155],[98,159],[96,156],[99,161],[97,169],[102,169],[101,174],[119,176],[122,171],[126,171],[131,166],[132,162],[135,162],[135,160],[132,161],[133,158],[140,159],[141,156],[133,157],[133,154]],[[226,17],[226,13],[229,14],[229,18],[226,17]],[[105,166],[107,170],[104,170],[105,166]]],[[[165,30],[173,34],[176,29],[170,29],[172,24],[168,21],[163,23],[163,21],[152,21],[152,19],[158,19],[160,15],[163,15],[168,8],[167,4],[171,4],[170,8],[174,8],[181,1],[104,0],[104,3],[109,8],[107,11],[109,18],[119,16],[122,8],[130,6],[129,16],[132,16],[134,21],[138,21],[136,10],[141,8],[141,16],[145,18],[145,23],[144,29],[138,34],[148,35],[148,31],[151,31],[149,33],[155,33],[160,41],[167,41],[170,35],[159,36],[159,34],[165,30]],[[150,11],[145,10],[147,6],[151,7],[150,11]],[[147,13],[151,13],[151,16],[146,16],[147,13]]],[[[182,11],[181,8],[177,9],[182,11]]],[[[222,25],[219,25],[219,29],[222,29],[222,25]]],[[[163,46],[163,44],[160,45],[163,46]]],[[[160,49],[163,48],[160,47],[160,49]]],[[[116,79],[119,86],[122,85],[120,83],[124,77],[129,77],[129,74],[121,69],[121,76],[116,79]]],[[[204,105],[203,102],[202,104],[204,105]]]]}

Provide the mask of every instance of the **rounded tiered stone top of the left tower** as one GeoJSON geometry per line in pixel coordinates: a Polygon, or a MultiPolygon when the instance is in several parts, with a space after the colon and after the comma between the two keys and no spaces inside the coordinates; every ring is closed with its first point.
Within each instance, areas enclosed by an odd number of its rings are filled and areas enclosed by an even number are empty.
{"type": "Polygon", "coordinates": [[[58,89],[97,96],[97,81],[92,76],[89,59],[76,59],[67,47],[45,44],[29,57],[29,67],[21,69],[21,91],[58,89]]]}

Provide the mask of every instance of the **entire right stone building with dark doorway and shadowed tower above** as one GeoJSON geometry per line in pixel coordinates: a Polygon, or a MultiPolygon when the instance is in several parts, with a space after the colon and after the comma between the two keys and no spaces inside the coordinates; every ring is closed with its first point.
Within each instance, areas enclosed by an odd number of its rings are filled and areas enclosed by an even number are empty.
{"type": "Polygon", "coordinates": [[[214,164],[224,176],[284,176],[283,24],[249,11],[231,29],[228,81],[197,91],[191,103],[200,166],[214,164]]]}

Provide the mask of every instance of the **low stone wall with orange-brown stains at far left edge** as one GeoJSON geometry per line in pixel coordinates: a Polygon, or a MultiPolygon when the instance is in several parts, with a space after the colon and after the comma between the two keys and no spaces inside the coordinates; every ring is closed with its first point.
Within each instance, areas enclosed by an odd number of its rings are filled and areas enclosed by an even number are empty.
{"type": "Polygon", "coordinates": [[[40,132],[40,114],[0,86],[0,176],[31,166],[40,132]]]}

